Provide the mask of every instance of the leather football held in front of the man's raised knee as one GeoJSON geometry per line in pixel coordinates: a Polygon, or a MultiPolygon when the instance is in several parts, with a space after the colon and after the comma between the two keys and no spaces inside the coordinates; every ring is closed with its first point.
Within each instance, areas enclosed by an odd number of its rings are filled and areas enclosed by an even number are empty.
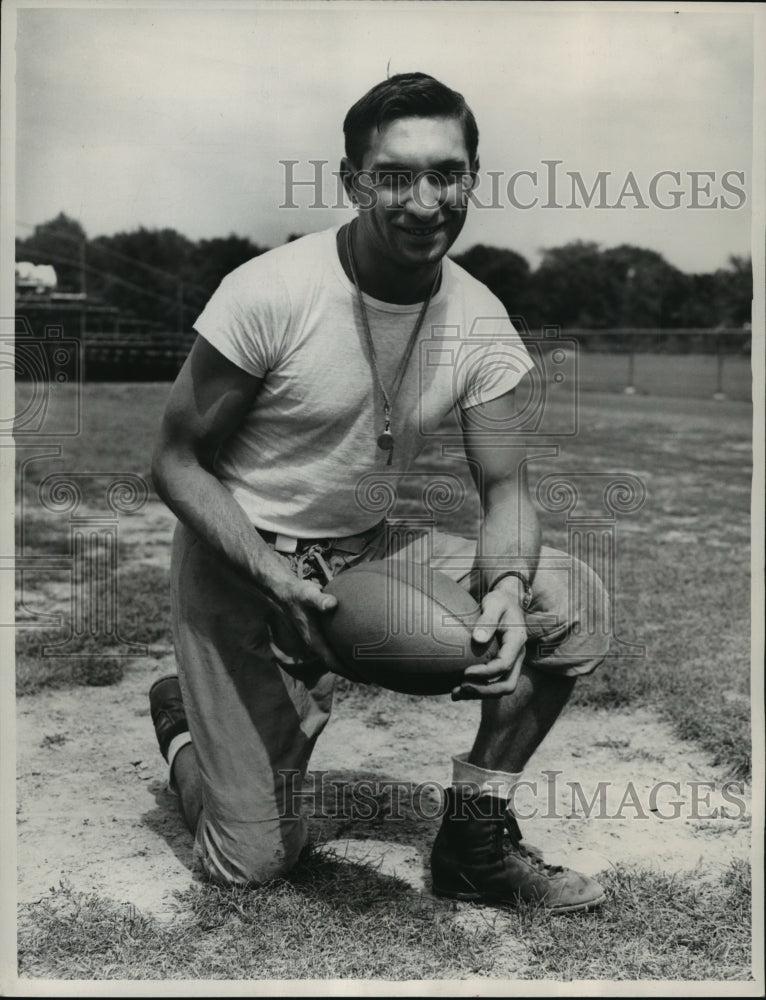
{"type": "Polygon", "coordinates": [[[425,565],[381,559],[339,573],[324,588],[338,606],[322,616],[325,638],[351,680],[406,694],[448,694],[466,667],[486,663],[497,641],[475,643],[479,606],[425,565]]]}

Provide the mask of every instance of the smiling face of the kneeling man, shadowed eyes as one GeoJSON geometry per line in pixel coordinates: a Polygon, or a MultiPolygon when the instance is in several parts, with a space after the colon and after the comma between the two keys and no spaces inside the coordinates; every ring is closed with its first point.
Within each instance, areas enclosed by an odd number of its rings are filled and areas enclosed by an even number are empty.
{"type": "Polygon", "coordinates": [[[373,129],[348,179],[364,249],[398,268],[433,267],[465,224],[475,166],[456,118],[397,118],[373,129]]]}

